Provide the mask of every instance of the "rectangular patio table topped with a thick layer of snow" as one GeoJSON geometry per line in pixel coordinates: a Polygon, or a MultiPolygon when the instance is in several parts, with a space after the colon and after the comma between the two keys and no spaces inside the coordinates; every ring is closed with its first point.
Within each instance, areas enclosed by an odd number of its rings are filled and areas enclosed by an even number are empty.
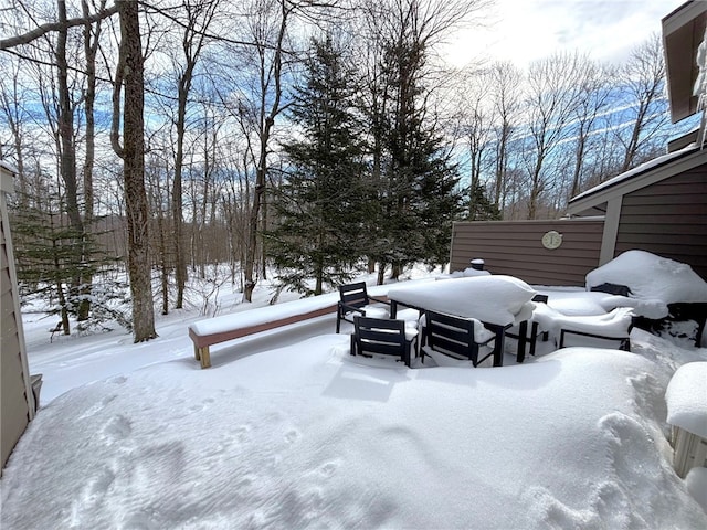
{"type": "MultiPolygon", "coordinates": [[[[395,318],[398,306],[443,312],[474,319],[477,341],[488,331],[495,335],[494,367],[503,365],[506,331],[513,326],[527,321],[532,315],[536,295],[525,282],[513,276],[492,275],[463,278],[445,278],[432,283],[411,283],[388,289],[390,316],[395,318]]],[[[525,348],[525,337],[520,337],[519,348],[525,348]]]]}

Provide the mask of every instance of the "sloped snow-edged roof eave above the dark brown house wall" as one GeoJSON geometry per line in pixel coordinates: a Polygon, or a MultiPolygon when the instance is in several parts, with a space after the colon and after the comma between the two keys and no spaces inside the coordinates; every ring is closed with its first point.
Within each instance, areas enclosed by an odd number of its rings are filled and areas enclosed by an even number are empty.
{"type": "Polygon", "coordinates": [[[696,144],[654,158],[636,168],[609,179],[591,190],[572,198],[567,206],[569,215],[598,215],[606,210],[606,202],[633,191],[707,163],[707,149],[696,144]]]}

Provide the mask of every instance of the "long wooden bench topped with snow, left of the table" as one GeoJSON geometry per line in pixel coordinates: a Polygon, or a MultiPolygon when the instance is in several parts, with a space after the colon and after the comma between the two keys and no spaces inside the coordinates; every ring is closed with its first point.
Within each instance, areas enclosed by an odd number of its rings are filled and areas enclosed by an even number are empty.
{"type": "Polygon", "coordinates": [[[210,346],[334,314],[338,299],[338,294],[327,294],[193,322],[189,337],[194,343],[194,357],[201,361],[201,368],[209,368],[210,346]]]}

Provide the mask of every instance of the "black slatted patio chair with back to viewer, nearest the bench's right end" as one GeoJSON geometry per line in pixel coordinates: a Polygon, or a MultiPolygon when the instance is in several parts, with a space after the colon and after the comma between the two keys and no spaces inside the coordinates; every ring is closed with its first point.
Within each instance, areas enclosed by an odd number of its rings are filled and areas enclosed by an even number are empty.
{"type": "Polygon", "coordinates": [[[400,358],[407,367],[410,367],[410,350],[414,347],[414,341],[416,341],[416,332],[408,340],[404,320],[354,317],[352,356],[392,356],[400,358]]]}

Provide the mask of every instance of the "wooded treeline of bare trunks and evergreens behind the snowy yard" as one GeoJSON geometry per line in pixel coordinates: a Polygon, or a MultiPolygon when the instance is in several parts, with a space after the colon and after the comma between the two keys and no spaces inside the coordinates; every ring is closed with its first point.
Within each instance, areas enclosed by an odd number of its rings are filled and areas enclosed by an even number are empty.
{"type": "Polygon", "coordinates": [[[70,332],[115,307],[96,285],[127,268],[146,340],[152,295],[181,308],[218,264],[246,300],[271,267],[307,294],[361,267],[382,282],[443,264],[453,220],[559,216],[664,152],[657,35],[620,65],[445,64],[444,39],[487,4],[12,2],[0,157],[23,286],[50,286],[70,332]]]}

